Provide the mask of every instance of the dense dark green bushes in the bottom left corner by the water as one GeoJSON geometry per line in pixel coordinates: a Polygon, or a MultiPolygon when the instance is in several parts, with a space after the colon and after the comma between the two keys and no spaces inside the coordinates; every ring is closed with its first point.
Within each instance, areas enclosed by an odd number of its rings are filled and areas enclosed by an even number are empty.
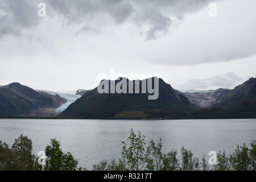
{"type": "Polygon", "coordinates": [[[32,141],[20,135],[11,148],[0,140],[0,171],[73,171],[80,170],[78,162],[71,153],[64,152],[60,148],[60,142],[51,139],[46,147],[45,165],[35,155],[32,155],[32,141]]]}

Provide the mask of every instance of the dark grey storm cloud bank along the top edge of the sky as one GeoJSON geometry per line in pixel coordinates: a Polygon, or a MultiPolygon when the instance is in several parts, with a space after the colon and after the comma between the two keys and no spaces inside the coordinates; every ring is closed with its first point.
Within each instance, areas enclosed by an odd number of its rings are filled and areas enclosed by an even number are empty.
{"type": "Polygon", "coordinates": [[[181,19],[213,0],[0,0],[0,10],[6,13],[0,14],[0,36],[18,34],[23,28],[38,25],[37,5],[40,2],[46,3],[47,15],[61,15],[69,23],[86,23],[102,13],[111,16],[117,24],[130,18],[140,27],[147,24],[146,39],[155,39],[158,34],[168,33],[171,17],[181,19]]]}

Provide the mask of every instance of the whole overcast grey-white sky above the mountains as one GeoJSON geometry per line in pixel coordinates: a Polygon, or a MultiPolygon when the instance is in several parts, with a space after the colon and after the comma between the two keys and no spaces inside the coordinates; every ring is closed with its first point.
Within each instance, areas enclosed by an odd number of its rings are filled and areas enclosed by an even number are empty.
{"type": "Polygon", "coordinates": [[[176,89],[234,88],[256,77],[255,7],[255,0],[0,0],[0,85],[92,89],[114,69],[157,74],[176,89]],[[46,17],[38,16],[40,2],[46,17]]]}

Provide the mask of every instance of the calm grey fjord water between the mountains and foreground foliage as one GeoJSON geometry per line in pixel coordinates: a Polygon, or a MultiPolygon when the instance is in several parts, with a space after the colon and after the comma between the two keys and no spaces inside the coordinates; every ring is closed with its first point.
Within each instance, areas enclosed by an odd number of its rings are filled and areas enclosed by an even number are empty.
{"type": "Polygon", "coordinates": [[[11,145],[20,134],[32,139],[33,152],[43,151],[51,138],[61,142],[64,151],[72,152],[82,167],[103,159],[118,158],[122,141],[130,129],[141,131],[147,142],[163,139],[163,151],[181,146],[208,159],[209,151],[225,150],[230,154],[237,144],[256,139],[256,119],[189,120],[80,120],[80,119],[0,119],[0,140],[11,145]]]}

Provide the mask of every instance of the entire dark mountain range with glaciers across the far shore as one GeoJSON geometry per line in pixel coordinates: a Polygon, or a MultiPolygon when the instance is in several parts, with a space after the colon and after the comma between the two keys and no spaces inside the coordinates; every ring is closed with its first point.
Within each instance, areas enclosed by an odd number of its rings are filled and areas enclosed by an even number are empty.
{"type": "MultiPolygon", "coordinates": [[[[161,78],[158,78],[158,81],[159,97],[157,100],[148,100],[148,94],[144,93],[100,94],[97,88],[80,89],[67,96],[64,93],[34,90],[19,83],[12,83],[0,87],[0,117],[256,118],[256,78],[250,78],[234,89],[220,88],[207,91],[176,90],[161,78]]],[[[114,82],[117,84],[118,80],[114,82]]],[[[134,86],[134,81],[129,82],[134,86]]]]}

